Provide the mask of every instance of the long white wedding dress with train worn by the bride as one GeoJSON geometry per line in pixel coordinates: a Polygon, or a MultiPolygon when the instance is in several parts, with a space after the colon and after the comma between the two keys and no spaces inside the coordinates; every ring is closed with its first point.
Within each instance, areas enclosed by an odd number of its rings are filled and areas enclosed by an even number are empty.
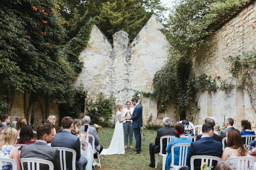
{"type": "Polygon", "coordinates": [[[125,154],[124,140],[123,140],[123,122],[119,122],[118,115],[121,112],[116,113],[116,123],[113,137],[111,139],[109,148],[103,149],[101,155],[114,155],[125,154]]]}

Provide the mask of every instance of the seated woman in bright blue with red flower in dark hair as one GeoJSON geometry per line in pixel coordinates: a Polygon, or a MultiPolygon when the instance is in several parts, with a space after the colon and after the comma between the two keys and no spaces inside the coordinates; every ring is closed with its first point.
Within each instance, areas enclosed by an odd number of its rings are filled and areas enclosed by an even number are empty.
{"type": "MultiPolygon", "coordinates": [[[[184,125],[181,123],[176,123],[174,125],[175,128],[175,137],[171,139],[171,141],[168,143],[168,146],[166,148],[167,152],[167,157],[166,157],[166,162],[165,162],[165,169],[169,170],[170,164],[171,164],[171,159],[174,159],[174,165],[179,165],[179,147],[174,148],[174,158],[171,157],[171,147],[175,144],[180,144],[180,143],[187,143],[190,144],[192,142],[191,138],[188,138],[184,135],[184,125]]],[[[185,148],[183,148],[185,149],[185,148]]],[[[189,152],[189,149],[187,150],[189,152]]]]}

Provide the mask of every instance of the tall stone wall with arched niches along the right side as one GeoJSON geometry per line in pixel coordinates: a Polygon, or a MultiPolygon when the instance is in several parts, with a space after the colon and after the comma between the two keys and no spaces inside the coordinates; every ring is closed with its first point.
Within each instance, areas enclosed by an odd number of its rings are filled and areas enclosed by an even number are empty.
{"type": "MultiPolygon", "coordinates": [[[[243,55],[255,49],[256,45],[256,7],[255,2],[243,8],[234,18],[230,19],[221,28],[209,37],[209,44],[203,46],[193,61],[195,76],[202,73],[216,78],[227,78],[226,65],[223,58],[229,55],[243,55]]],[[[241,119],[251,121],[255,128],[256,116],[251,108],[249,97],[241,89],[231,88],[225,92],[204,92],[198,102],[201,107],[197,123],[203,124],[212,110],[217,124],[222,126],[224,116],[235,120],[235,126],[240,128],[241,119]]]]}

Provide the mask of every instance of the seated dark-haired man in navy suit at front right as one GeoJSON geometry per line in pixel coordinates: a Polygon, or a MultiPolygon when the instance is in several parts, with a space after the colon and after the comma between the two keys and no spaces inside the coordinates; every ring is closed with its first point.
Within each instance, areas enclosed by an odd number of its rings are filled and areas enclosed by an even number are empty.
{"type": "MultiPolygon", "coordinates": [[[[182,167],[181,170],[190,169],[190,159],[196,155],[216,156],[222,155],[222,144],[212,139],[213,137],[213,125],[210,123],[203,124],[202,137],[200,140],[192,142],[189,148],[189,155],[187,156],[187,167],[182,167]]],[[[217,165],[217,162],[213,162],[213,167],[217,165]]],[[[201,169],[201,160],[194,160],[194,169],[201,169]]]]}

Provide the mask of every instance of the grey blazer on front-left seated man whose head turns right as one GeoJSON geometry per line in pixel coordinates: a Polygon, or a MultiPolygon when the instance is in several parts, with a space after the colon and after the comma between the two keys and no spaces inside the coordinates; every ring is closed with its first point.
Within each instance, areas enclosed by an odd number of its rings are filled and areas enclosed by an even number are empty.
{"type": "MultiPolygon", "coordinates": [[[[21,158],[49,160],[53,163],[54,170],[61,169],[58,149],[48,146],[44,142],[36,141],[33,144],[21,147],[21,158]]],[[[26,165],[24,167],[27,169],[26,165]]],[[[40,169],[48,169],[48,165],[40,164],[40,169]]]]}

